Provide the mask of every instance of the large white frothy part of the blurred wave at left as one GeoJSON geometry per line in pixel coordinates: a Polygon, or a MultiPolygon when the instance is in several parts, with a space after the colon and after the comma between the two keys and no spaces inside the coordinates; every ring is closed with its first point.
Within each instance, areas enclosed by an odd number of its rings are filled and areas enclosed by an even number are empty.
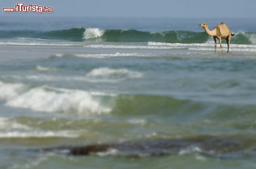
{"type": "Polygon", "coordinates": [[[0,99],[5,105],[42,112],[78,112],[82,114],[101,114],[111,111],[101,103],[103,93],[71,89],[58,89],[48,86],[29,88],[23,84],[0,83],[0,99]]]}

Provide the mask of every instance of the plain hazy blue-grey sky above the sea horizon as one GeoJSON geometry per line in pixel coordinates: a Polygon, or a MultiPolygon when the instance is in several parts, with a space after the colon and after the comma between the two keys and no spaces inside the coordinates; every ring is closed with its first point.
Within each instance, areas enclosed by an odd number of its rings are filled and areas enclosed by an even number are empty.
{"type": "Polygon", "coordinates": [[[256,0],[1,0],[0,16],[256,18],[256,0]],[[51,6],[53,13],[4,13],[2,7],[51,6]]]}

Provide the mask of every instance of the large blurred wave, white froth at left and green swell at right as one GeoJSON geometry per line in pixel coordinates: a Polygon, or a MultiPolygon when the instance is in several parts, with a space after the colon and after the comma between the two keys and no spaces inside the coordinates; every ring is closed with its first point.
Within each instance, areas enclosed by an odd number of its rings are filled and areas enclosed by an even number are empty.
{"type": "MultiPolygon", "coordinates": [[[[106,70],[101,68],[93,69],[88,76],[113,76],[112,70],[106,70]]],[[[117,69],[115,71],[122,72],[123,70],[117,69]]],[[[125,76],[130,76],[130,72],[124,72],[125,76]]],[[[135,75],[141,76],[140,73],[135,73],[135,75]]],[[[132,76],[134,76],[134,72],[132,76]]],[[[182,99],[176,98],[175,95],[104,93],[101,91],[55,88],[45,85],[29,86],[5,82],[0,82],[0,89],[0,99],[5,101],[5,106],[48,113],[139,115],[144,113],[155,114],[157,112],[158,114],[167,113],[168,116],[172,116],[176,113],[187,112],[195,115],[198,112],[205,111],[205,107],[210,107],[211,113],[216,113],[216,116],[223,117],[229,116],[229,113],[234,113],[236,108],[244,110],[244,115],[256,110],[255,103],[238,104],[236,106],[232,102],[212,104],[211,102],[208,103],[207,100],[197,98],[182,99]]]]}

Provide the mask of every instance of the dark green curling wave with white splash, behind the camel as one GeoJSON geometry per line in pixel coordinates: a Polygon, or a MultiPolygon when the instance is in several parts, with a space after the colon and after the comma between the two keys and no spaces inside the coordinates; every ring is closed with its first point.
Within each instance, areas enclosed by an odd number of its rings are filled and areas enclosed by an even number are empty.
{"type": "MultiPolygon", "coordinates": [[[[256,44],[256,33],[235,32],[231,43],[233,44],[256,44]]],[[[72,28],[67,30],[53,31],[0,31],[0,39],[33,38],[44,40],[67,40],[73,42],[103,41],[103,42],[163,42],[163,43],[205,43],[212,39],[205,32],[193,32],[183,30],[171,30],[164,32],[148,32],[138,30],[122,30],[99,28],[72,28]]]]}

